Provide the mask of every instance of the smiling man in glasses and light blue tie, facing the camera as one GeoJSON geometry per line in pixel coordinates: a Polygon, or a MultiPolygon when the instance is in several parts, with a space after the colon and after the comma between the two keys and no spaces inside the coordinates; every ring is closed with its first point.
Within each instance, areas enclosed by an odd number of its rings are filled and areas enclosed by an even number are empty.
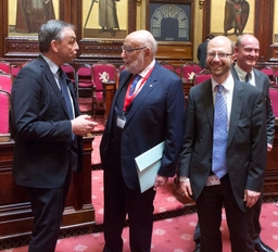
{"type": "Polygon", "coordinates": [[[266,164],[265,97],[260,89],[233,79],[232,54],[233,43],[227,37],[210,41],[206,65],[212,79],[191,88],[187,102],[180,187],[186,197],[195,200],[203,252],[223,249],[219,230],[223,205],[231,251],[254,251],[253,205],[262,192],[266,164]],[[224,127],[219,122],[215,127],[219,96],[226,106],[222,111],[227,121],[223,121],[224,127]],[[219,129],[224,131],[219,134],[219,129]],[[215,151],[219,141],[224,143],[224,152],[215,151]],[[214,169],[217,164],[220,176],[214,169]]]}

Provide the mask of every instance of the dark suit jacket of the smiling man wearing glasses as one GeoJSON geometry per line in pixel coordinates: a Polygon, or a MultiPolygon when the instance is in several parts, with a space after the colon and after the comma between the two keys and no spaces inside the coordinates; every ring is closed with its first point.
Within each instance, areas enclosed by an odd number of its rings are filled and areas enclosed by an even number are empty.
{"type": "MultiPolygon", "coordinates": [[[[257,88],[235,80],[227,143],[228,173],[239,207],[244,189],[262,191],[266,165],[265,98],[257,88]]],[[[214,102],[212,80],[190,89],[179,175],[190,178],[198,199],[212,169],[214,102]]]]}

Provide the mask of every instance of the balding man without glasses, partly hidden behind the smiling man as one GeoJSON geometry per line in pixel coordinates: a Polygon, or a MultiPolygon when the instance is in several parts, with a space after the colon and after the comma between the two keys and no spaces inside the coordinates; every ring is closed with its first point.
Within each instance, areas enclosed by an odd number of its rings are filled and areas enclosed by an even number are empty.
{"type": "MultiPolygon", "coordinates": [[[[231,66],[232,77],[237,80],[245,81],[247,74],[250,74],[249,83],[258,89],[261,89],[265,94],[266,101],[266,113],[267,113],[267,151],[271,151],[275,134],[275,116],[273,113],[273,106],[269,99],[269,78],[263,72],[254,68],[260,53],[260,42],[253,35],[242,35],[237,39],[235,55],[237,63],[231,66]]],[[[271,248],[266,245],[260,238],[261,224],[260,215],[262,209],[262,197],[258,199],[257,203],[254,205],[254,244],[255,251],[257,252],[274,252],[271,248]]],[[[200,251],[200,227],[197,225],[194,232],[194,240],[197,242],[195,251],[200,251]]]]}

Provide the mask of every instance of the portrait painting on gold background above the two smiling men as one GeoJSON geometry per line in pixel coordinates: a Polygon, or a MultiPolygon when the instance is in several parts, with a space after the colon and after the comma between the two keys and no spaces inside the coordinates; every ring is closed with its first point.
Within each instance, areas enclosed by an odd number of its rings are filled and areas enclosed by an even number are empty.
{"type": "Polygon", "coordinates": [[[255,0],[211,0],[211,33],[236,40],[254,34],[255,0]]]}

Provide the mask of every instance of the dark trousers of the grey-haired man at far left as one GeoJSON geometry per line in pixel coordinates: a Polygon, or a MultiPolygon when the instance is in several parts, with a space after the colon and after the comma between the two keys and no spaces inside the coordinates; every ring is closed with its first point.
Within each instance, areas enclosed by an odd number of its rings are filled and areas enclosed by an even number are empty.
{"type": "Polygon", "coordinates": [[[60,188],[26,188],[34,213],[28,252],[54,252],[71,177],[72,171],[68,169],[66,179],[60,188]]]}

